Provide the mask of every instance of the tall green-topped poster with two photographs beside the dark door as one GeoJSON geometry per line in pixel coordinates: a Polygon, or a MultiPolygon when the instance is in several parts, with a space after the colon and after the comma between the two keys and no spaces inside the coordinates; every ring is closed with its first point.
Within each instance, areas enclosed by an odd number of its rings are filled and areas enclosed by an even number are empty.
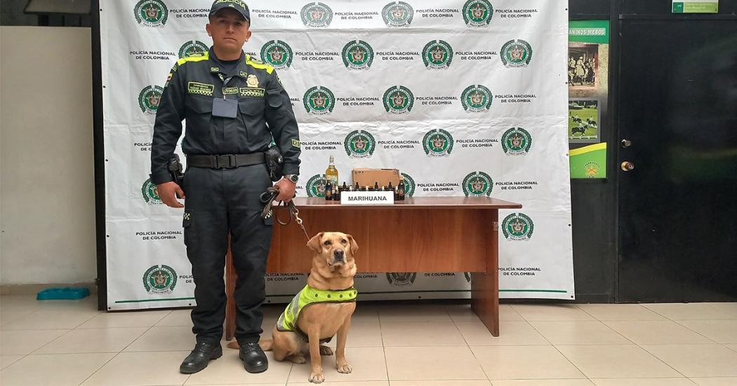
{"type": "Polygon", "coordinates": [[[609,93],[609,21],[570,21],[568,26],[568,141],[571,178],[607,178],[601,143],[609,93]],[[593,146],[584,144],[595,143],[593,146]],[[582,149],[586,147],[586,149],[582,149]]]}

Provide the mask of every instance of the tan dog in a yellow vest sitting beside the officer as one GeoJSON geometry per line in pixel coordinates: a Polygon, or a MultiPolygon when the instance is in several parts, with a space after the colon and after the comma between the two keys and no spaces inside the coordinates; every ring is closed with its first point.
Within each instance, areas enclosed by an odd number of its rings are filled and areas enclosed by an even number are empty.
{"type": "MultiPolygon", "coordinates": [[[[335,366],[342,374],[353,371],[346,360],[346,338],[356,310],[357,291],[353,278],[358,244],[351,235],[320,232],[307,242],[307,246],[314,252],[307,285],[287,304],[273,327],[272,338],[261,340],[259,346],[264,351],[273,351],[278,361],[306,363],[305,354],[310,354],[312,368],[308,380],[322,383],[325,375],[321,355],[333,354],[332,349],[322,343],[329,342],[335,335],[338,335],[335,366]]],[[[234,346],[237,348],[237,344],[234,346]]]]}

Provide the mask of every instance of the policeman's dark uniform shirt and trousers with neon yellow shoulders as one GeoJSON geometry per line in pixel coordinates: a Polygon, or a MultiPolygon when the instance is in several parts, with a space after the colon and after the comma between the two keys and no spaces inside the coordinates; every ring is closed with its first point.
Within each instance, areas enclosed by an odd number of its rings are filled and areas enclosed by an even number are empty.
{"type": "MultiPolygon", "coordinates": [[[[299,173],[299,135],[287,92],[269,65],[242,54],[226,74],[212,48],[202,57],[181,59],[172,68],[156,113],[151,181],[172,180],[167,162],[186,131],[182,150],[192,155],[252,154],[273,141],[284,157],[284,174],[299,173]],[[213,116],[213,99],[237,100],[235,118],[213,116]]],[[[272,221],[260,218],[259,195],[271,186],[265,165],[240,168],[187,167],[184,189],[184,243],[192,263],[197,307],[192,331],[198,342],[223,335],[223,282],[228,233],[238,274],[236,338],[254,343],[262,332],[266,260],[272,221]]]]}

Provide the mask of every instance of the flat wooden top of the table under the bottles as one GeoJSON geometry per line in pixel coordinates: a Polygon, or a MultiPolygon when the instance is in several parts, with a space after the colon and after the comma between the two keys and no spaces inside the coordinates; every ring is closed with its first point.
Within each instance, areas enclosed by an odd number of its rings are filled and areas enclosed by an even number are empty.
{"type": "Polygon", "coordinates": [[[305,209],[519,209],[522,204],[492,197],[407,197],[394,204],[342,205],[340,201],[326,201],[321,197],[297,197],[294,204],[305,209]]]}

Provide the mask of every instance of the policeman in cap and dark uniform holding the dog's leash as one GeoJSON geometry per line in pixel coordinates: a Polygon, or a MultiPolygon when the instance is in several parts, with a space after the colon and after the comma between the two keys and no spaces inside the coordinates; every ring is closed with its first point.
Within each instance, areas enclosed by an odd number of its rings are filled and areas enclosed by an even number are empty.
{"type": "Polygon", "coordinates": [[[180,371],[196,373],[223,355],[220,339],[226,314],[223,282],[228,233],[238,274],[235,337],[248,372],[268,368],[258,345],[261,305],[273,219],[262,220],[259,196],[272,185],[264,151],[272,139],[282,151],[284,178],[277,200],[294,196],[299,171],[297,122],[287,92],[269,65],[242,51],[251,37],[251,15],[241,0],[216,0],[209,13],[213,46],[172,68],[153,130],[151,180],[161,201],[184,207],[184,243],[195,281],[197,307],[192,332],[197,343],[180,371]],[[184,186],[172,181],[172,158],[186,120],[184,186]],[[175,194],[184,198],[183,206],[175,194]]]}

